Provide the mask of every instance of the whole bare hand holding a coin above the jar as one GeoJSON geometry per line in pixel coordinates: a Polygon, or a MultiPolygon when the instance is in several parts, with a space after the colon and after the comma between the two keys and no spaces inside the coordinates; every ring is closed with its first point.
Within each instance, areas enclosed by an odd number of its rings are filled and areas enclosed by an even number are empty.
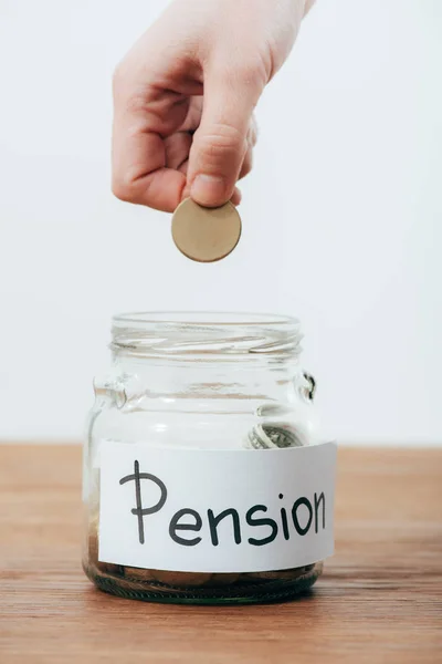
{"type": "Polygon", "coordinates": [[[238,204],[253,110],[312,0],[176,0],[114,76],[113,190],[173,211],[238,204]]]}

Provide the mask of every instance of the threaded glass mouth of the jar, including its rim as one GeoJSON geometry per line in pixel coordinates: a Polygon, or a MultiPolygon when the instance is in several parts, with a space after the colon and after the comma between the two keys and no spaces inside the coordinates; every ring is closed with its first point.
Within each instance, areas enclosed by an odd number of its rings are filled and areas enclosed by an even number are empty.
{"type": "Polygon", "coordinates": [[[146,311],[113,318],[114,352],[135,356],[277,355],[301,352],[296,318],[269,313],[146,311]]]}

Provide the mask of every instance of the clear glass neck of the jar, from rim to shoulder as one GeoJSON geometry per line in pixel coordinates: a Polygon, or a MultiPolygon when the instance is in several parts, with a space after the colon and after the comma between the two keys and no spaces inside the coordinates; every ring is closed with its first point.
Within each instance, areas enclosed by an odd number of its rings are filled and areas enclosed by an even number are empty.
{"type": "Polygon", "coordinates": [[[133,394],[280,400],[299,372],[301,339],[285,317],[126,314],[110,349],[133,394]]]}

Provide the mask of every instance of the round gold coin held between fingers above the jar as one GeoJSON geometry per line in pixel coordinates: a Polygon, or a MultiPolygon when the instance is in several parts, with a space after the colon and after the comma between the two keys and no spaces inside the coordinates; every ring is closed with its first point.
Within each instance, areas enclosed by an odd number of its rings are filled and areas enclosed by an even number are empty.
{"type": "Polygon", "coordinates": [[[186,198],[173,212],[172,238],[192,260],[213,262],[225,258],[241,237],[241,217],[232,203],[206,208],[186,198]]]}

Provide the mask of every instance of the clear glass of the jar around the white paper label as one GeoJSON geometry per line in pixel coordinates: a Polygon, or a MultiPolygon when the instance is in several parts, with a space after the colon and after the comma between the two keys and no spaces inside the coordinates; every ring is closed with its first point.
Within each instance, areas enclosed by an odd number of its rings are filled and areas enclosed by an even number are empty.
{"type": "MultiPolygon", "coordinates": [[[[285,317],[114,318],[112,366],[94,382],[84,446],[83,567],[99,589],[149,601],[259,602],[294,596],[316,581],[320,561],[265,571],[190,572],[104,562],[98,553],[101,468],[115,443],[250,455],[320,443],[314,381],[299,365],[299,341],[298,321],[285,317]]],[[[177,471],[186,474],[186,464],[177,471]]]]}

